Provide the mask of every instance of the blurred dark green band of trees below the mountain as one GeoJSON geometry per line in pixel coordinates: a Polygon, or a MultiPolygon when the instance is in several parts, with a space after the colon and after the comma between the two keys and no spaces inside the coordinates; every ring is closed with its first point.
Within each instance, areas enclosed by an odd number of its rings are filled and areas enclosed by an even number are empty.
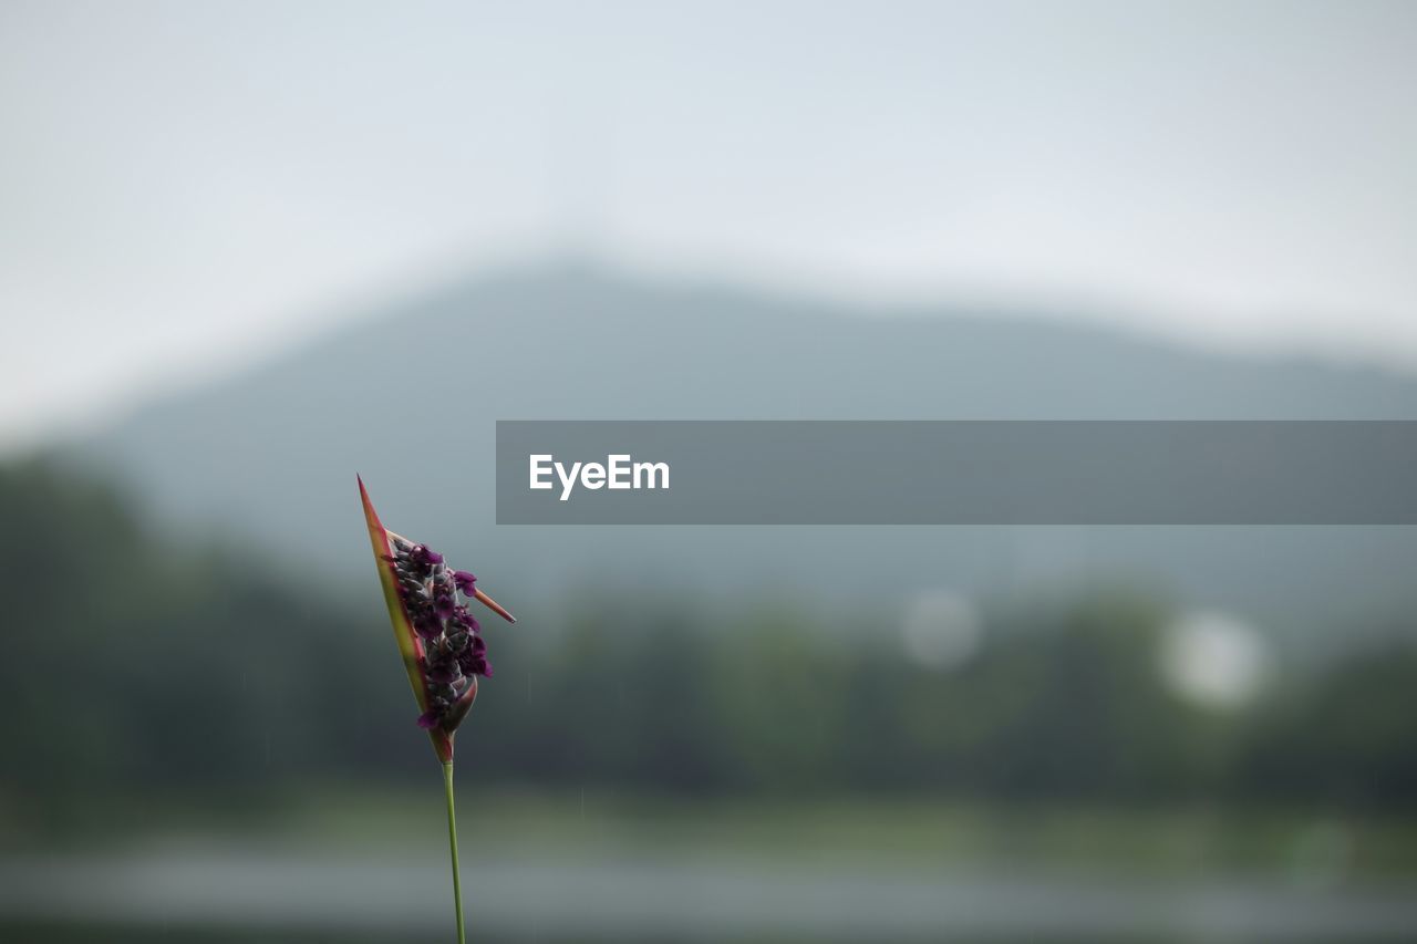
{"type": "MultiPolygon", "coordinates": [[[[310,583],[271,550],[184,547],[111,490],[0,469],[0,798],[239,795],[414,775],[427,748],[373,573],[310,583]]],[[[482,782],[682,794],[1104,802],[1417,799],[1417,649],[1281,678],[1248,712],[1175,697],[1169,614],[1127,592],[1000,605],[971,659],[911,662],[891,621],[582,594],[489,626],[496,676],[459,737],[482,782]]]]}

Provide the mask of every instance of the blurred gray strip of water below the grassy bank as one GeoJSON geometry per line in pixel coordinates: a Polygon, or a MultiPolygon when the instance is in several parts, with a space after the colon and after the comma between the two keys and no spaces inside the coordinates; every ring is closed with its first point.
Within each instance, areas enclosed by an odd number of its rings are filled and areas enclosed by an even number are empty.
{"type": "MultiPolygon", "coordinates": [[[[499,859],[463,872],[479,941],[1417,940],[1407,884],[785,867],[727,856],[499,859]]],[[[221,849],[0,860],[3,941],[445,941],[442,856],[221,849]]]]}

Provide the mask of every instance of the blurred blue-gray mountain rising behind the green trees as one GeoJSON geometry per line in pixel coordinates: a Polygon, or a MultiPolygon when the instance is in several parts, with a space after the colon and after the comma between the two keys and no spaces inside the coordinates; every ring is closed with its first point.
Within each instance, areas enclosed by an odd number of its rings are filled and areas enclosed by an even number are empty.
{"type": "MultiPolygon", "coordinates": [[[[1129,581],[1277,636],[1401,631],[1413,529],[497,527],[493,424],[534,418],[1417,418],[1417,381],[1027,313],[853,309],[563,266],[444,286],[69,451],[181,527],[367,577],[354,473],[490,588],[605,584],[896,607],[1129,581]]],[[[506,592],[506,591],[504,591],[506,592]]],[[[888,624],[888,626],[886,626],[888,624]]]]}

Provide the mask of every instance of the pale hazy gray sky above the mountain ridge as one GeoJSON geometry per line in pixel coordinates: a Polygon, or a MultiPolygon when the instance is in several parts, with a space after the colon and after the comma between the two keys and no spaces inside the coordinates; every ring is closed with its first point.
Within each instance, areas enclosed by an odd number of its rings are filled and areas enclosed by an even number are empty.
{"type": "Polygon", "coordinates": [[[0,0],[0,442],[575,247],[1417,364],[1417,4],[0,0]]]}

